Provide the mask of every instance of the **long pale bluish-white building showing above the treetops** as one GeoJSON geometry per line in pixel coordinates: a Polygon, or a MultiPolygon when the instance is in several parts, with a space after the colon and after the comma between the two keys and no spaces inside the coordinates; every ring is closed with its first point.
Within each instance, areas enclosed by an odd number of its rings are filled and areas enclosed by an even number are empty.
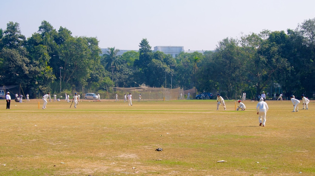
{"type": "MultiPolygon", "coordinates": [[[[102,55],[107,54],[108,49],[107,48],[101,48],[102,50],[102,55]]],[[[119,50],[119,52],[117,53],[117,55],[123,55],[123,53],[127,52],[127,51],[136,51],[138,52],[139,50],[119,50]]],[[[155,46],[153,52],[155,51],[162,51],[165,54],[170,54],[173,57],[178,56],[178,54],[180,52],[186,52],[186,53],[193,53],[193,52],[198,52],[198,53],[203,53],[207,50],[184,50],[183,46],[155,46]]]]}

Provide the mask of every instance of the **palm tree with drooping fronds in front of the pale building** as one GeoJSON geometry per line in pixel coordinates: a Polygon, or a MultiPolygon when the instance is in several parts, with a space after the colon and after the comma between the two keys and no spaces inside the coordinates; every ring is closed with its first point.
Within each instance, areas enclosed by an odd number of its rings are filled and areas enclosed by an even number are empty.
{"type": "Polygon", "coordinates": [[[111,70],[112,66],[115,66],[115,68],[117,70],[119,70],[119,66],[121,65],[121,59],[120,56],[117,55],[117,53],[119,52],[119,49],[115,49],[115,47],[107,48],[108,51],[106,51],[107,53],[103,55],[103,59],[102,59],[102,64],[105,65],[105,68],[107,70],[111,70]]]}

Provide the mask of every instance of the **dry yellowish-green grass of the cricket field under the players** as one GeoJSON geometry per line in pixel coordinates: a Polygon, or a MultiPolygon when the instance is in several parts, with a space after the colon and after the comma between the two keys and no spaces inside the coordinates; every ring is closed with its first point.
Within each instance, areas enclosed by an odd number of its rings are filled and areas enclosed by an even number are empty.
{"type": "Polygon", "coordinates": [[[267,103],[0,100],[0,175],[315,175],[314,101],[267,103]]]}

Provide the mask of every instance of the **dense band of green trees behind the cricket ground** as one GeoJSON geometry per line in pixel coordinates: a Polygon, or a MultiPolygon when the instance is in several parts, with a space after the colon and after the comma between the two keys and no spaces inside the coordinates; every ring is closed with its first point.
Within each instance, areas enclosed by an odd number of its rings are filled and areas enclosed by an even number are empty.
{"type": "MultiPolygon", "coordinates": [[[[183,87],[220,92],[228,97],[260,94],[278,88],[287,94],[313,97],[315,77],[315,18],[298,24],[295,30],[263,30],[224,38],[214,51],[181,52],[173,58],[152,52],[146,38],[139,51],[118,56],[109,47],[101,55],[94,37],[72,36],[42,21],[27,38],[18,23],[0,29],[0,84],[21,84],[30,93],[113,91],[112,87],[183,87]]],[[[271,92],[273,93],[273,92],[271,92]]]]}

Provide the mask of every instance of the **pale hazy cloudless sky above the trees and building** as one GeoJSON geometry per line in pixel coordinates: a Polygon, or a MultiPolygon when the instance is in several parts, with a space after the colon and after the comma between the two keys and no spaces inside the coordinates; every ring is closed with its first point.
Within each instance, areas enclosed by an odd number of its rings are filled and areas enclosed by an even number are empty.
{"type": "Polygon", "coordinates": [[[97,37],[100,48],[184,46],[214,50],[224,38],[263,29],[286,31],[315,18],[314,0],[2,0],[0,28],[20,24],[30,37],[43,20],[73,36],[97,37]]]}

